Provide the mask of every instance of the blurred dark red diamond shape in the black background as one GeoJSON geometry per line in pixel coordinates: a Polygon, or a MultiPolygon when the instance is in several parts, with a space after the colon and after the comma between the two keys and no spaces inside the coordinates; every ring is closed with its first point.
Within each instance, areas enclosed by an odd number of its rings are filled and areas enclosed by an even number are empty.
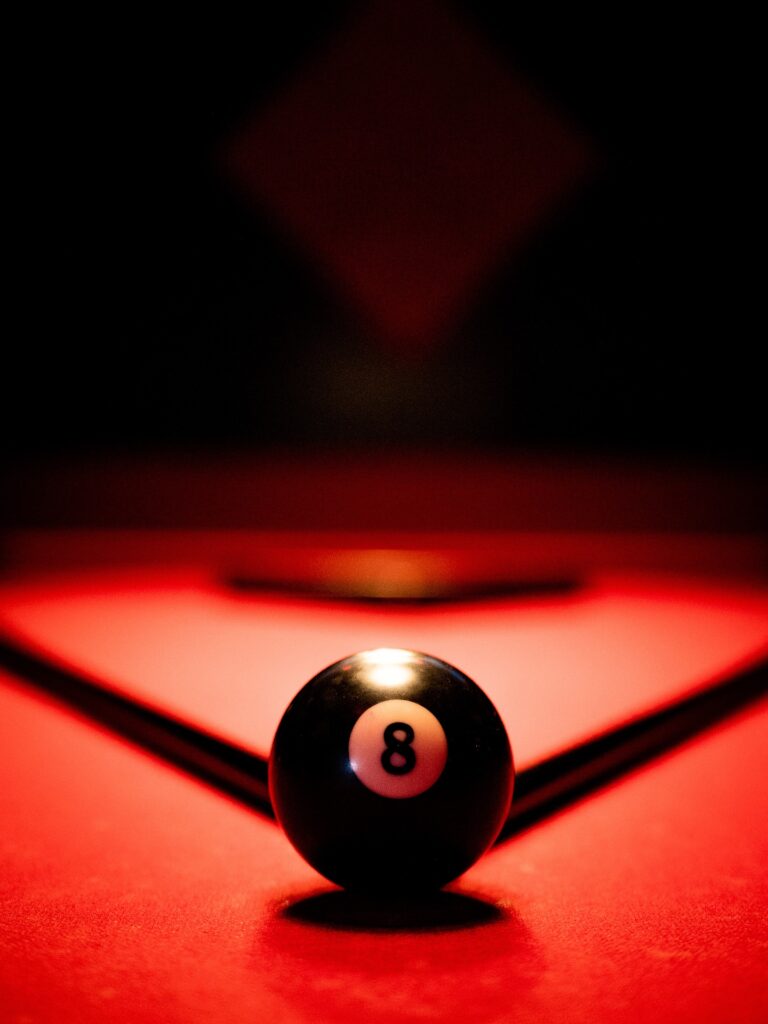
{"type": "Polygon", "coordinates": [[[596,155],[452,12],[375,2],[230,137],[224,163],[380,337],[414,350],[596,155]]]}

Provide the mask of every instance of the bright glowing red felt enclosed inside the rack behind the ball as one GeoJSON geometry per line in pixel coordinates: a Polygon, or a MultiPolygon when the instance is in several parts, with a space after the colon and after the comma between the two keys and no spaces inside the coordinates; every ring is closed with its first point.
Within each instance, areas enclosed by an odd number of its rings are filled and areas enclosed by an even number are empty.
{"type": "Polygon", "coordinates": [[[424,650],[488,693],[524,767],[758,651],[768,595],[606,578],[562,597],[407,610],[243,597],[202,573],[139,573],[7,589],[0,621],[264,755],[289,700],[321,669],[374,647],[424,650]]]}

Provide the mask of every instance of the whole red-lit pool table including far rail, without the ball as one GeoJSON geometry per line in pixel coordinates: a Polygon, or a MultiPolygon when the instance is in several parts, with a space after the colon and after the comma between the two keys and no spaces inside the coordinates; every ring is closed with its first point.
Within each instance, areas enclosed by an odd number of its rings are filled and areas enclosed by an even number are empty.
{"type": "MultiPolygon", "coordinates": [[[[418,474],[397,478],[413,498],[418,474]]],[[[610,517],[626,509],[580,499],[572,478],[569,526],[515,519],[502,483],[497,522],[480,503],[430,530],[436,513],[415,500],[389,524],[375,503],[332,521],[327,498],[306,510],[322,474],[302,479],[303,513],[285,484],[255,525],[177,507],[176,528],[170,511],[113,510],[109,528],[72,513],[5,531],[0,1018],[766,1019],[764,537],[622,531],[610,517]],[[304,863],[263,785],[294,693],[381,646],[475,679],[519,783],[474,867],[386,903],[304,863]],[[696,719],[716,691],[725,701],[696,719]],[[680,709],[688,726],[653,733],[680,709]],[[198,754],[153,740],[156,726],[197,737],[198,754]],[[227,751],[250,759],[253,786],[226,777],[227,751]]]]}

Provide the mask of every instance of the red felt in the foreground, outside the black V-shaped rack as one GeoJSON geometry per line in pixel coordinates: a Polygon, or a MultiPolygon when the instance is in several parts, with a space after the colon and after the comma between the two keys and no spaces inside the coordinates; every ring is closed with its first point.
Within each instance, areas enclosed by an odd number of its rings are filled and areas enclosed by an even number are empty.
{"type": "Polygon", "coordinates": [[[7,678],[0,741],[4,1019],[768,1013],[764,707],[497,847],[443,930],[302,920],[330,887],[271,822],[7,678]]]}

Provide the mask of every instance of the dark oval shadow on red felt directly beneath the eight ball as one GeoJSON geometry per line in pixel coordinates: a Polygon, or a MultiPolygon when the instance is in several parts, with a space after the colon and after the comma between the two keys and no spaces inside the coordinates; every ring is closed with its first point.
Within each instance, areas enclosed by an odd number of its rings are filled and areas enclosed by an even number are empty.
{"type": "Polygon", "coordinates": [[[397,897],[334,890],[296,900],[281,914],[305,925],[360,932],[451,931],[505,918],[484,899],[443,891],[397,897]]]}

